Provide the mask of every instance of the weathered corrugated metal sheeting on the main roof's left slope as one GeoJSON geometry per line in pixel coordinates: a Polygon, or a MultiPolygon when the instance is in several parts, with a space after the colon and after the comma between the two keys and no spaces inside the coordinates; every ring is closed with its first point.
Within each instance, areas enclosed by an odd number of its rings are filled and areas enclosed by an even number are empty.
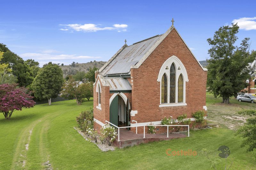
{"type": "Polygon", "coordinates": [[[119,67],[122,67],[122,64],[120,64],[120,63],[127,63],[125,65],[125,67],[129,68],[129,70],[130,70],[131,65],[134,65],[134,62],[132,62],[132,61],[140,61],[140,59],[148,52],[148,50],[155,44],[155,42],[161,38],[162,35],[158,35],[158,36],[152,37],[150,39],[146,39],[144,41],[141,41],[141,42],[138,42],[138,43],[134,43],[134,44],[124,48],[111,61],[111,63],[109,63],[101,71],[101,74],[102,75],[106,75],[106,74],[121,74],[123,69],[119,68],[119,67]],[[120,70],[120,71],[116,71],[116,70],[120,70]]]}

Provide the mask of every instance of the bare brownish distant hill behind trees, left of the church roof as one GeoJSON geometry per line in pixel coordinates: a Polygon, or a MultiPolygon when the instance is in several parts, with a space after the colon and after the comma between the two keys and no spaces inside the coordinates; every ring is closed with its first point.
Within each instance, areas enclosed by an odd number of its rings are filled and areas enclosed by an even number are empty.
{"type": "Polygon", "coordinates": [[[63,71],[63,76],[66,77],[67,75],[75,75],[77,71],[83,71],[83,72],[88,72],[88,70],[91,68],[93,68],[94,66],[97,67],[99,70],[100,68],[107,62],[105,61],[94,61],[94,62],[88,62],[88,63],[76,63],[75,67],[72,67],[71,64],[70,65],[64,65],[61,66],[60,68],[63,71]]]}

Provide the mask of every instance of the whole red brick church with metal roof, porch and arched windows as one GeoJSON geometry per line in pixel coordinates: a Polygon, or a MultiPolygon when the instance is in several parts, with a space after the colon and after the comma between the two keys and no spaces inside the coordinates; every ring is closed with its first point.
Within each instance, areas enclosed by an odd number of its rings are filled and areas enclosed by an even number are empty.
{"type": "MultiPolygon", "coordinates": [[[[94,129],[161,124],[164,116],[207,110],[206,78],[194,54],[172,26],[161,35],[125,44],[95,72],[94,129]]],[[[165,128],[166,129],[166,128],[165,128]]],[[[138,128],[143,133],[143,127],[138,128]]]]}

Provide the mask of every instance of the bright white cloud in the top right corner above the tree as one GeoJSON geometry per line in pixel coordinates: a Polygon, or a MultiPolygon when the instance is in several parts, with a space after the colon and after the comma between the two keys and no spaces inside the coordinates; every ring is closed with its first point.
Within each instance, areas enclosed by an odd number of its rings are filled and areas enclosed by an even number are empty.
{"type": "Polygon", "coordinates": [[[253,18],[239,18],[239,19],[234,19],[232,23],[236,24],[239,26],[239,29],[245,29],[245,30],[256,30],[256,17],[253,18]]]}

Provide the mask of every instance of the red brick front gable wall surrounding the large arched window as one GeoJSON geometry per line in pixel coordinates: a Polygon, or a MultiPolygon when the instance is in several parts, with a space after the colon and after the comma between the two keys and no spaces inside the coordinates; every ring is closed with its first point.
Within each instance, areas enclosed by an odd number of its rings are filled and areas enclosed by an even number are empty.
{"type": "MultiPolygon", "coordinates": [[[[133,80],[132,110],[138,111],[138,114],[132,116],[132,119],[138,123],[161,121],[164,116],[177,118],[184,113],[188,118],[192,118],[192,112],[203,110],[203,106],[206,105],[207,71],[204,71],[197,63],[175,29],[167,35],[138,69],[131,69],[131,77],[133,80]],[[189,80],[186,82],[187,106],[159,107],[158,73],[163,63],[172,55],[178,57],[187,70],[189,80]]],[[[140,128],[139,131],[141,132],[141,130],[143,133],[143,129],[140,128]]]]}

